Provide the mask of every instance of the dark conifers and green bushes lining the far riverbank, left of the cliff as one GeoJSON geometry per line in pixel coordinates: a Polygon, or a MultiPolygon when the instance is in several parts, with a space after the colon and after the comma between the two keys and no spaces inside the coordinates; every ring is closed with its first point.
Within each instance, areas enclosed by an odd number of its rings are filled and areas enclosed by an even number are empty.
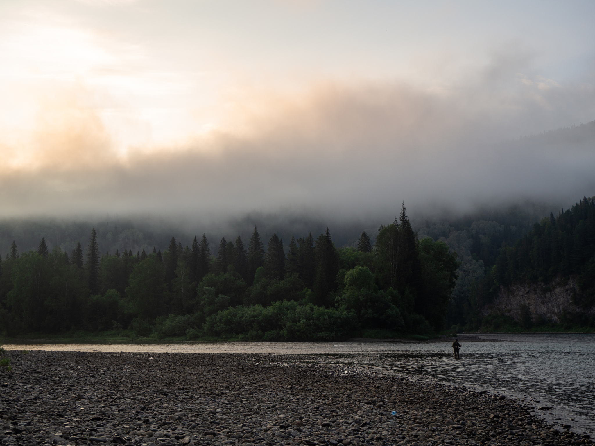
{"type": "Polygon", "coordinates": [[[337,248],[330,231],[273,234],[267,249],[255,227],[218,243],[174,237],[164,252],[99,253],[93,228],[86,255],[18,253],[0,259],[4,335],[115,330],[133,336],[250,340],[339,340],[365,329],[440,331],[459,262],[446,244],[419,240],[403,205],[376,243],[337,248]],[[232,241],[233,240],[233,241],[232,241]]]}

